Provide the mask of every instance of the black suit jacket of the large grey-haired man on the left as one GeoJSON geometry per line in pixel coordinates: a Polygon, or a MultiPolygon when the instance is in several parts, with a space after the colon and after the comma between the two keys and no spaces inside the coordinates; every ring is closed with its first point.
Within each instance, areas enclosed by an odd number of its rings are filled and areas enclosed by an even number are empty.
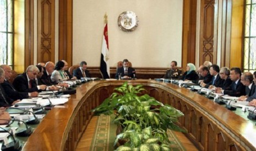
{"type": "Polygon", "coordinates": [[[40,92],[40,90],[37,89],[35,79],[32,80],[31,88],[29,88],[28,83],[29,83],[29,79],[28,77],[26,77],[26,73],[24,72],[23,74],[18,75],[14,79],[13,86],[19,92],[34,92],[34,91],[40,92]]]}

